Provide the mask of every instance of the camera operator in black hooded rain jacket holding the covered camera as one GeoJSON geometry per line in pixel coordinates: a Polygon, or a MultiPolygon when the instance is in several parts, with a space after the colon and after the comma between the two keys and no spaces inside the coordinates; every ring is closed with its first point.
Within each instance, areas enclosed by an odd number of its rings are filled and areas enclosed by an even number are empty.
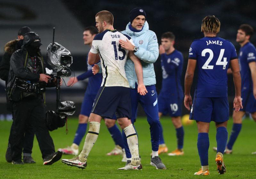
{"type": "Polygon", "coordinates": [[[62,155],[60,151],[55,152],[45,122],[44,90],[45,87],[54,87],[56,79],[50,80],[51,77],[45,74],[41,45],[40,37],[35,32],[28,32],[21,49],[15,51],[10,60],[7,90],[9,100],[13,102],[12,164],[24,164],[21,153],[27,125],[31,125],[36,134],[44,165],[51,165],[62,155]],[[19,88],[20,81],[29,85],[31,90],[19,88]]]}

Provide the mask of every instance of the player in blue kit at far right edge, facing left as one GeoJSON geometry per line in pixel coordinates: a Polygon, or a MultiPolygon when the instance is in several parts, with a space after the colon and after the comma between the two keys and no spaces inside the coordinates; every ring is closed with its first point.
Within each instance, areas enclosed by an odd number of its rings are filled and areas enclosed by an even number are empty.
{"type": "MultiPolygon", "coordinates": [[[[253,28],[248,24],[241,25],[236,34],[236,42],[241,45],[238,60],[241,78],[243,79],[241,95],[244,108],[237,113],[233,111],[234,123],[224,152],[227,154],[232,153],[232,147],[242,128],[242,118],[245,112],[251,113],[252,118],[256,121],[256,49],[250,42],[252,35],[253,28]]],[[[216,147],[213,147],[213,150],[216,150],[216,147]]],[[[252,154],[256,154],[256,152],[252,152],[252,154]]]]}

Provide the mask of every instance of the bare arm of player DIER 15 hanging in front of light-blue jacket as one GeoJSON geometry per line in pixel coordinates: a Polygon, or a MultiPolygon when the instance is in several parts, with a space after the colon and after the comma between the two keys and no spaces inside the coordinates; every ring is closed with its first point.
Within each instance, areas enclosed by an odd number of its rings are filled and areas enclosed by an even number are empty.
{"type": "Polygon", "coordinates": [[[143,70],[142,70],[142,65],[140,63],[139,58],[137,58],[134,53],[132,51],[129,51],[129,57],[131,58],[131,60],[134,63],[134,67],[135,67],[135,72],[138,78],[138,93],[140,93],[140,95],[145,95],[148,93],[145,85],[143,84],[143,70]]]}

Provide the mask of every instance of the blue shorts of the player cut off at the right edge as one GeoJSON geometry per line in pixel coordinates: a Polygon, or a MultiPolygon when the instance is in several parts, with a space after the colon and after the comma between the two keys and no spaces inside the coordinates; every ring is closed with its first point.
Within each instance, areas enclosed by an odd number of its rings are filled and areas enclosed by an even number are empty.
{"type": "Polygon", "coordinates": [[[254,113],[256,112],[256,99],[253,96],[252,90],[241,91],[243,109],[240,111],[254,113]]]}

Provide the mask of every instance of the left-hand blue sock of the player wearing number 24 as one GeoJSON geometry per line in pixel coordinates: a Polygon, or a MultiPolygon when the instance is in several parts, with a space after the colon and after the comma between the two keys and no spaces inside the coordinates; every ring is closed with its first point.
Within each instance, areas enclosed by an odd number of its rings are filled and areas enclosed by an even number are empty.
{"type": "Polygon", "coordinates": [[[208,165],[208,150],[209,150],[209,135],[208,133],[198,133],[197,137],[197,149],[201,161],[201,166],[208,165]]]}

